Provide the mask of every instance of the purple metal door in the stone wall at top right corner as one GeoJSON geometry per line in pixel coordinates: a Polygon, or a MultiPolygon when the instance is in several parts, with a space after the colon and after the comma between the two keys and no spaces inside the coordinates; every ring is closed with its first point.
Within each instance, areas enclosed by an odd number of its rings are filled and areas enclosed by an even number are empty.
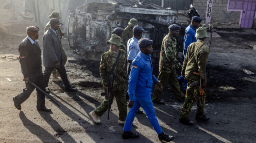
{"type": "Polygon", "coordinates": [[[243,4],[241,28],[252,28],[255,16],[256,0],[244,0],[243,4]]]}

